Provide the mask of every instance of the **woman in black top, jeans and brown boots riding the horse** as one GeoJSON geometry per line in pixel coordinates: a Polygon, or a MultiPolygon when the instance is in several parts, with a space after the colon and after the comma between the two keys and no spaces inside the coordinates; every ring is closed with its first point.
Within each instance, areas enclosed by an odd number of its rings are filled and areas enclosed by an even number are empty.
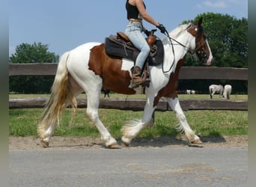
{"type": "Polygon", "coordinates": [[[142,25],[142,19],[152,25],[155,25],[162,33],[165,33],[165,27],[164,25],[159,24],[159,22],[156,22],[156,20],[147,13],[146,5],[143,0],[127,0],[126,9],[129,23],[125,33],[132,44],[140,50],[135,61],[135,66],[131,69],[132,87],[135,88],[144,83],[144,80],[141,78],[142,67],[150,53],[150,47],[148,46],[144,36],[141,34],[141,31],[144,31],[145,34],[149,34],[149,31],[147,31],[142,25]]]}

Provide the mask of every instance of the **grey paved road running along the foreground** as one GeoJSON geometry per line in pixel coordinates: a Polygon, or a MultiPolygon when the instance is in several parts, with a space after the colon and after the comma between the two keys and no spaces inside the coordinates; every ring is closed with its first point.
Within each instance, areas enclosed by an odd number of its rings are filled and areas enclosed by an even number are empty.
{"type": "Polygon", "coordinates": [[[246,186],[247,148],[10,150],[10,186],[246,186]]]}

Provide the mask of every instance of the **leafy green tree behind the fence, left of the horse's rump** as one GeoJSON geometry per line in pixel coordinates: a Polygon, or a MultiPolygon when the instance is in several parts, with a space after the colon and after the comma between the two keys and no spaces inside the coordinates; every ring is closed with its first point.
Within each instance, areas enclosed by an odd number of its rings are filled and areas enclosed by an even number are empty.
{"type": "MultiPolygon", "coordinates": [[[[49,45],[42,43],[22,43],[16,46],[10,63],[56,63],[58,55],[49,52],[49,45]]],[[[54,77],[49,76],[15,76],[10,77],[9,91],[15,93],[49,93],[54,77]]]]}

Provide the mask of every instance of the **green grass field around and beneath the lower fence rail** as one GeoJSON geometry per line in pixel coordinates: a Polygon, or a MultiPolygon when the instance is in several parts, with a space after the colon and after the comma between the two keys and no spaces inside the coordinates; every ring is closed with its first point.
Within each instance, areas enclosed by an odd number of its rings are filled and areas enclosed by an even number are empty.
{"type": "MultiPolygon", "coordinates": [[[[38,95],[10,95],[10,98],[33,97],[38,95]]],[[[48,96],[48,95],[40,95],[48,96]]],[[[120,94],[111,94],[111,97],[124,97],[120,94]]],[[[132,96],[129,96],[132,97],[132,96]]],[[[180,95],[180,99],[209,99],[208,95],[180,95]]],[[[137,95],[135,98],[144,98],[137,95]]],[[[219,96],[215,96],[219,99],[219,96]]],[[[247,100],[247,95],[233,95],[231,99],[247,100]]],[[[71,113],[69,108],[64,111],[60,126],[55,129],[54,135],[60,136],[91,136],[98,137],[97,128],[85,115],[85,108],[79,108],[70,125],[71,113]]],[[[202,136],[247,135],[247,111],[184,111],[189,125],[202,136]]],[[[43,108],[10,109],[9,132],[13,136],[37,137],[37,124],[43,114],[43,108]]],[[[121,111],[116,109],[100,109],[100,119],[115,138],[121,138],[121,126],[128,120],[141,118],[142,111],[121,111]]],[[[175,129],[177,119],[173,111],[156,111],[155,126],[143,129],[138,137],[150,138],[159,136],[180,135],[175,129]]]]}

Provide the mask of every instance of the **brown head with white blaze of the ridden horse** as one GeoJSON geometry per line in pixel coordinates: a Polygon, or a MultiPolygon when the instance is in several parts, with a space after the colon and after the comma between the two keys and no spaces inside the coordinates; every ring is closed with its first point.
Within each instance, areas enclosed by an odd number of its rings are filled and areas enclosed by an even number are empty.
{"type": "Polygon", "coordinates": [[[202,18],[196,25],[192,25],[187,31],[195,37],[195,54],[198,56],[202,64],[210,66],[213,62],[213,55],[207,41],[206,34],[202,27],[202,18]]]}

